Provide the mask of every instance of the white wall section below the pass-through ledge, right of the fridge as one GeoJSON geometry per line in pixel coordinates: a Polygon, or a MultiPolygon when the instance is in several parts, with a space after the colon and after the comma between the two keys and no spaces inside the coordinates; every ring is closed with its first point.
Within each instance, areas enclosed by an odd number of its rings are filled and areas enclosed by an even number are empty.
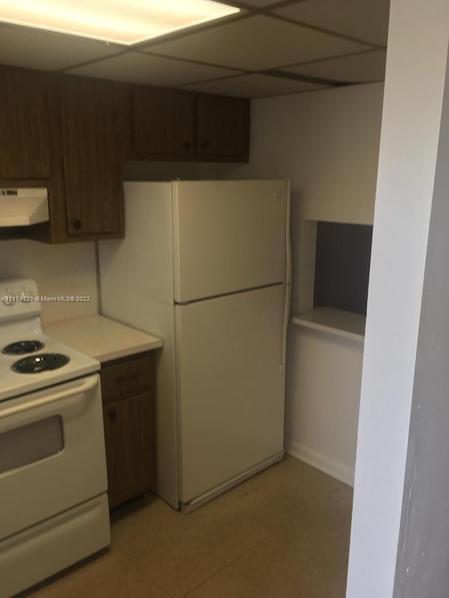
{"type": "Polygon", "coordinates": [[[293,327],[288,343],[286,451],[354,484],[363,345],[293,327]]]}

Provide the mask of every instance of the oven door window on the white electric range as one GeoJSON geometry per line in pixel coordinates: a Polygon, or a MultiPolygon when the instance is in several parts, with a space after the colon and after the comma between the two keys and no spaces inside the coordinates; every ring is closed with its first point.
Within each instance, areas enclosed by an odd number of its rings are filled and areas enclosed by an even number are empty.
{"type": "Polygon", "coordinates": [[[51,457],[63,448],[59,415],[0,433],[0,474],[51,457]]]}

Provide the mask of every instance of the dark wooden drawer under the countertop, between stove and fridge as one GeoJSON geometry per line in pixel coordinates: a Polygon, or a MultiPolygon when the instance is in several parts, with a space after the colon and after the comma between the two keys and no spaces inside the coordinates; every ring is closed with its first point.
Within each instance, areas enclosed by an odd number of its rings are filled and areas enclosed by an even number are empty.
{"type": "Polygon", "coordinates": [[[105,365],[101,369],[103,401],[120,395],[133,395],[151,385],[152,362],[149,355],[105,365]]]}

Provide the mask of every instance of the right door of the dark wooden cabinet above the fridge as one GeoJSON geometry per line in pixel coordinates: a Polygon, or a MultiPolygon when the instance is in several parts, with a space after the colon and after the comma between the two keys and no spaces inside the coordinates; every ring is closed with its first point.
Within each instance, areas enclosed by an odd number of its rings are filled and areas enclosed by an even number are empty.
{"type": "Polygon", "coordinates": [[[248,161],[250,102],[240,97],[199,95],[197,152],[248,161]]]}

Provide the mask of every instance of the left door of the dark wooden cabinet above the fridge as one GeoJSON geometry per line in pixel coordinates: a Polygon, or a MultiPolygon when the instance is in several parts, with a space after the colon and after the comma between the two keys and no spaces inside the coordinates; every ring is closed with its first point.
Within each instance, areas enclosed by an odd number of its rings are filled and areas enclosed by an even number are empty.
{"type": "Polygon", "coordinates": [[[195,147],[195,95],[133,88],[133,149],[155,156],[190,156],[195,147]]]}

